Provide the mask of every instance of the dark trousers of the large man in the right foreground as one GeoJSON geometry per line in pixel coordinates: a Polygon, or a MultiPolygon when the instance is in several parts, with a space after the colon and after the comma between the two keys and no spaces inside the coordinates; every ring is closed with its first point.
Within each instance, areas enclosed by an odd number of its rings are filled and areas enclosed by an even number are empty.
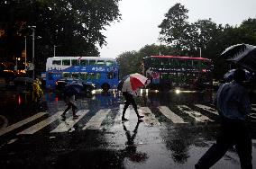
{"type": "Polygon", "coordinates": [[[252,169],[251,135],[243,120],[223,119],[216,143],[197,162],[197,169],[210,168],[235,146],[242,169],[252,169]]]}

